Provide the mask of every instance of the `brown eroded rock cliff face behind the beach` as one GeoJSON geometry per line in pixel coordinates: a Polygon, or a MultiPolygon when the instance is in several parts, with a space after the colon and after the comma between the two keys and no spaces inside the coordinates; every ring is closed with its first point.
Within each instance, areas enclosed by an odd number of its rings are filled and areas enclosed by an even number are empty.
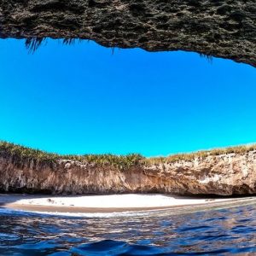
{"type": "Polygon", "coordinates": [[[72,160],[20,162],[0,155],[0,190],[49,194],[256,194],[256,151],[120,170],[72,160]]]}

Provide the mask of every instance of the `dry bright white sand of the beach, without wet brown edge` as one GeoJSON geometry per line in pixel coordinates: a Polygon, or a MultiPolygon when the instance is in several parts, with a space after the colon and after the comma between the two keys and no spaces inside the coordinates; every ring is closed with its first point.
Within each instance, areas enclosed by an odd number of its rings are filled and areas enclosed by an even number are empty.
{"type": "Polygon", "coordinates": [[[44,207],[153,208],[177,207],[232,201],[232,198],[195,198],[173,195],[0,195],[0,204],[44,207]]]}

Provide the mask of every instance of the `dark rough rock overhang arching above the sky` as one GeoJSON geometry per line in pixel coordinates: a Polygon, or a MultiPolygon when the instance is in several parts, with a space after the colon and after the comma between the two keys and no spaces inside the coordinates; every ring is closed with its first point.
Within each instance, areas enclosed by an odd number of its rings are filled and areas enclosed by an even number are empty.
{"type": "Polygon", "coordinates": [[[255,0],[0,0],[0,38],[87,38],[256,67],[255,0]]]}

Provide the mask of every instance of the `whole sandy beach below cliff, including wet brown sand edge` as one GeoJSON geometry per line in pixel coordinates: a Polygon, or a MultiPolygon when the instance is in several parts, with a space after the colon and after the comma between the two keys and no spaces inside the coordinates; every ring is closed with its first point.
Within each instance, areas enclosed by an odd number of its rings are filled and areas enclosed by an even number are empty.
{"type": "Polygon", "coordinates": [[[0,207],[27,212],[131,212],[209,206],[250,198],[199,198],[177,195],[0,195],[0,207]]]}

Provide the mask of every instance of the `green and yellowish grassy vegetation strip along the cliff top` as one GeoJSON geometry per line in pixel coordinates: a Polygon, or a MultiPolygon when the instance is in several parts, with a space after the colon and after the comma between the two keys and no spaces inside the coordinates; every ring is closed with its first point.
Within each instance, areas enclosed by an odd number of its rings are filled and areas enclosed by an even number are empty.
{"type": "Polygon", "coordinates": [[[256,150],[256,144],[236,146],[229,148],[216,148],[212,150],[198,151],[189,154],[172,154],[167,157],[145,158],[141,154],[84,154],[84,155],[61,155],[47,153],[42,150],[26,148],[14,143],[0,141],[0,156],[12,156],[17,160],[37,160],[44,163],[55,163],[57,160],[78,160],[80,162],[95,163],[96,166],[116,166],[125,169],[137,165],[157,165],[173,163],[179,160],[195,160],[195,158],[206,158],[211,155],[220,154],[244,154],[256,150]]]}

